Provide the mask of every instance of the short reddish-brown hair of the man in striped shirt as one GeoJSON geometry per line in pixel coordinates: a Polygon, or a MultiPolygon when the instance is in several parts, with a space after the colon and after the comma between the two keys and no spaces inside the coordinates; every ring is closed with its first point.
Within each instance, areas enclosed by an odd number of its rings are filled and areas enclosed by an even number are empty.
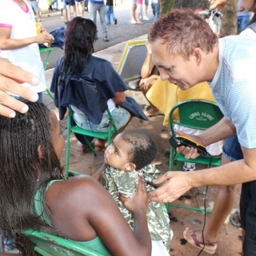
{"type": "Polygon", "coordinates": [[[214,49],[218,37],[203,18],[190,9],[174,9],[158,19],[148,34],[149,42],[162,39],[170,54],[188,59],[194,48],[206,53],[214,49]]]}

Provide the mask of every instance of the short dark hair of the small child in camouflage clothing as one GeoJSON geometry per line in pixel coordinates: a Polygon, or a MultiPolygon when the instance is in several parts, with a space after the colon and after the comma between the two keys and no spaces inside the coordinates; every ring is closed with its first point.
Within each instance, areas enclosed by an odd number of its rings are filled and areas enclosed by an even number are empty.
{"type": "Polygon", "coordinates": [[[140,170],[154,160],[157,154],[157,146],[154,140],[144,131],[125,130],[122,132],[122,139],[130,144],[130,162],[140,170]]]}

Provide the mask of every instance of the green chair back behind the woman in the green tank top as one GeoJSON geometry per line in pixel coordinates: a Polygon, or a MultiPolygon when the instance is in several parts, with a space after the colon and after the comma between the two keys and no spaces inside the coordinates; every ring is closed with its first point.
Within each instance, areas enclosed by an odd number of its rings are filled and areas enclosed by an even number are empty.
{"type": "Polygon", "coordinates": [[[34,251],[44,256],[104,256],[78,242],[59,238],[37,230],[22,230],[20,234],[26,235],[34,242],[34,251]]]}

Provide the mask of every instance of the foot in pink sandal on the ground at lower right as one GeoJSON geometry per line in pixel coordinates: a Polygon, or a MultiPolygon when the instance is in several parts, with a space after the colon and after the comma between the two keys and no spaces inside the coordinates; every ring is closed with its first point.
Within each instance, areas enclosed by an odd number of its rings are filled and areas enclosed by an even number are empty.
{"type": "Polygon", "coordinates": [[[186,230],[183,232],[183,238],[185,238],[191,246],[197,247],[200,250],[203,248],[203,251],[206,252],[206,254],[213,255],[217,250],[217,242],[205,242],[204,246],[203,242],[198,241],[198,238],[201,238],[201,233],[201,230],[190,231],[190,229],[186,227],[186,230]]]}

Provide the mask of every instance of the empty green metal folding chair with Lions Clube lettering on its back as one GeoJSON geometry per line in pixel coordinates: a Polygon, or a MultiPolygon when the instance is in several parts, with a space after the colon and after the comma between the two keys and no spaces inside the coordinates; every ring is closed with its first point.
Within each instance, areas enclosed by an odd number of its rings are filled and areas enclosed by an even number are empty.
{"type": "MultiPolygon", "coordinates": [[[[214,126],[220,119],[222,119],[222,111],[218,108],[215,102],[210,102],[202,99],[190,99],[184,102],[178,102],[170,110],[170,135],[176,136],[174,125],[189,127],[196,130],[206,130],[210,126],[214,126]],[[178,110],[179,119],[174,120],[174,111],[178,110]]],[[[198,157],[195,159],[186,159],[183,154],[178,154],[173,146],[170,146],[170,163],[169,170],[173,170],[174,161],[177,162],[177,170],[182,170],[181,162],[194,162],[206,166],[220,166],[221,155],[198,157]]],[[[182,206],[173,203],[167,203],[166,208],[170,211],[170,206],[178,208],[186,208],[189,210],[204,211],[198,207],[182,206]]],[[[210,212],[210,210],[206,210],[210,212]]]]}

